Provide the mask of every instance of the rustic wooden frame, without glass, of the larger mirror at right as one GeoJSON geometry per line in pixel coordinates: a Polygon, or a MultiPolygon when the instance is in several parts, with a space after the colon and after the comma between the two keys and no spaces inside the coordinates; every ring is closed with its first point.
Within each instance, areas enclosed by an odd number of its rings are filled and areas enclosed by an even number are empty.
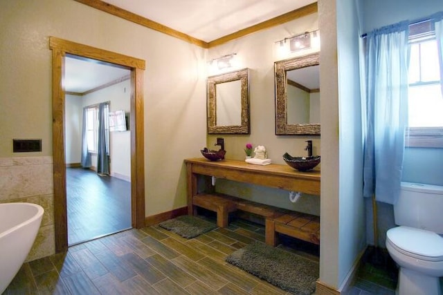
{"type": "Polygon", "coordinates": [[[320,124],[287,124],[287,71],[319,64],[319,53],[275,61],[275,135],[320,135],[320,124]]]}

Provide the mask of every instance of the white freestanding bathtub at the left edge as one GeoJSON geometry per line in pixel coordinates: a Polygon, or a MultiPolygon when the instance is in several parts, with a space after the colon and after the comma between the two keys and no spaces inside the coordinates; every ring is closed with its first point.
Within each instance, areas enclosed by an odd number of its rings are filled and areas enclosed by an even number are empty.
{"type": "Polygon", "coordinates": [[[0,294],[8,287],[33,247],[43,211],[37,204],[0,204],[0,294]]]}

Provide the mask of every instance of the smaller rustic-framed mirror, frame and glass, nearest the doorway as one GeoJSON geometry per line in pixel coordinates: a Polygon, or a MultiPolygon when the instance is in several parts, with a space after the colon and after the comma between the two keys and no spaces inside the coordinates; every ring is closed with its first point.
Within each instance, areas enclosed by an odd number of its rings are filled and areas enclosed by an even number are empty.
{"type": "Polygon", "coordinates": [[[208,134],[249,134],[249,70],[208,77],[208,134]]]}

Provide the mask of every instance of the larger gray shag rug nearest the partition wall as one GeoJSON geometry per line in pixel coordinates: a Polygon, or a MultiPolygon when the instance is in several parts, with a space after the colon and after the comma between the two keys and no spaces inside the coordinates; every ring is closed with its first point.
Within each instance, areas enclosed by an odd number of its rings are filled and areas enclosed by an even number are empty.
{"type": "Polygon", "coordinates": [[[226,262],[293,294],[316,290],[318,263],[262,242],[238,249],[226,262]]]}

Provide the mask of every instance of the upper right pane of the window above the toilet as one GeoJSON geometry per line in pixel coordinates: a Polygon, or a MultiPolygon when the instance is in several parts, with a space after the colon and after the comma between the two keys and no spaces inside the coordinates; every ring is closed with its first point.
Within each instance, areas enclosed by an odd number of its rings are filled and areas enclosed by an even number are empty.
{"type": "Polygon", "coordinates": [[[437,42],[435,40],[423,42],[420,51],[422,58],[422,81],[430,82],[440,80],[437,42]]]}

